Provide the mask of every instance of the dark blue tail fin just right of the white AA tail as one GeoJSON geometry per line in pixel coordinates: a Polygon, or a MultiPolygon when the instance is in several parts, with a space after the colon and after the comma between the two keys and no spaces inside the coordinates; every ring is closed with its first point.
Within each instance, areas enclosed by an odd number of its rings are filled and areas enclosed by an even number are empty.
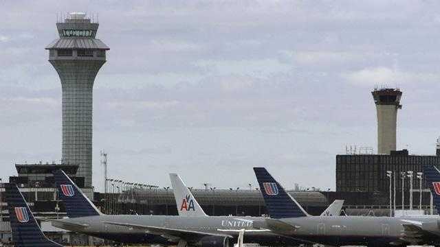
{"type": "Polygon", "coordinates": [[[272,178],[265,168],[254,167],[254,172],[270,217],[280,219],[308,216],[303,207],[272,178]]]}

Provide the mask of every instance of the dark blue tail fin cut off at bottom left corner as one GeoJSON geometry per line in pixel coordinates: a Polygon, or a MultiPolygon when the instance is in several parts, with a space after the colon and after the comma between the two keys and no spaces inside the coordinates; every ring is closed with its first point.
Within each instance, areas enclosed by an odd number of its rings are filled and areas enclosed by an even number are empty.
{"type": "Polygon", "coordinates": [[[11,183],[3,185],[5,187],[6,202],[8,202],[14,246],[63,247],[61,244],[56,244],[47,239],[43,234],[17,185],[11,183]]]}

